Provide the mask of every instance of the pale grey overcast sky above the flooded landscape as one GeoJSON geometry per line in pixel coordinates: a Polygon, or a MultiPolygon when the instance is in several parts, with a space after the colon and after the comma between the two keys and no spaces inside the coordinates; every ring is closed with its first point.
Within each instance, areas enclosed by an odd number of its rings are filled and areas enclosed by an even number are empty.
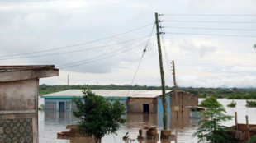
{"type": "MultiPolygon", "coordinates": [[[[255,6],[255,0],[2,0],[0,64],[59,68],[58,77],[40,84],[65,85],[69,74],[70,85],[130,85],[159,12],[168,86],[174,60],[179,86],[256,87],[255,6]]],[[[155,35],[154,28],[133,85],[161,83],[155,35]]]]}

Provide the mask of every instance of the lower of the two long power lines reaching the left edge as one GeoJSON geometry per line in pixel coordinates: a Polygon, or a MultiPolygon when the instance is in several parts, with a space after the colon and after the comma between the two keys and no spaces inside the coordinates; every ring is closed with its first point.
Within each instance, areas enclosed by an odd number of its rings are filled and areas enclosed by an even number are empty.
{"type": "MultiPolygon", "coordinates": [[[[149,37],[149,35],[145,36],[145,37],[140,37],[138,39],[145,39],[146,37],[149,37]]],[[[124,43],[132,42],[132,41],[135,41],[138,39],[130,39],[130,40],[127,40],[124,42],[116,43],[116,44],[124,44],[124,43]]],[[[62,52],[62,53],[48,53],[48,54],[41,54],[41,55],[36,55],[36,56],[16,57],[16,58],[1,58],[0,60],[10,60],[10,59],[17,59],[17,58],[39,58],[39,57],[53,56],[53,55],[59,55],[59,54],[76,53],[76,52],[87,51],[87,50],[96,49],[96,48],[110,47],[110,46],[113,46],[116,44],[109,44],[109,45],[98,46],[98,47],[93,47],[93,48],[78,49],[78,50],[72,50],[72,51],[62,52]]]]}

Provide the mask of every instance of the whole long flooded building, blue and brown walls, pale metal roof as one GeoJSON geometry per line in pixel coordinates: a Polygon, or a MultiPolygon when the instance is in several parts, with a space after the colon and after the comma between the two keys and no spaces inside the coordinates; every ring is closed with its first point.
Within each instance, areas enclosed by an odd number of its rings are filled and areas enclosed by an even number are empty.
{"type": "MultiPolygon", "coordinates": [[[[126,105],[127,113],[163,113],[162,90],[92,90],[97,95],[103,96],[105,99],[114,98],[126,105]]],[[[187,94],[187,93],[186,93],[187,94]]],[[[187,94],[179,91],[179,106],[187,112],[185,106],[197,105],[198,96],[187,94]],[[184,108],[183,108],[184,107],[184,108]]],[[[72,111],[76,109],[74,103],[70,102],[72,97],[83,97],[83,90],[64,90],[49,95],[43,95],[45,99],[46,111],[72,111]]],[[[173,91],[166,92],[168,102],[168,113],[171,112],[175,105],[175,96],[173,91]]]]}

